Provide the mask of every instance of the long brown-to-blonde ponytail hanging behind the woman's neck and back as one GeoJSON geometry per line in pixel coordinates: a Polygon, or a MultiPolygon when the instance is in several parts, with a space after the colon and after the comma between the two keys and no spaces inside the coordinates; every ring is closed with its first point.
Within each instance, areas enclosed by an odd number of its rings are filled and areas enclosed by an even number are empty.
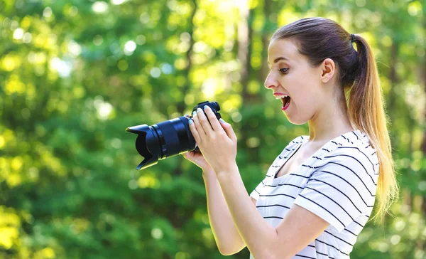
{"type": "Polygon", "coordinates": [[[383,104],[381,84],[376,61],[364,38],[354,35],[358,52],[358,69],[354,85],[349,93],[349,120],[357,129],[365,132],[376,149],[379,162],[378,208],[376,215],[382,220],[391,203],[398,198],[398,184],[392,159],[391,139],[388,134],[387,117],[383,104]]]}

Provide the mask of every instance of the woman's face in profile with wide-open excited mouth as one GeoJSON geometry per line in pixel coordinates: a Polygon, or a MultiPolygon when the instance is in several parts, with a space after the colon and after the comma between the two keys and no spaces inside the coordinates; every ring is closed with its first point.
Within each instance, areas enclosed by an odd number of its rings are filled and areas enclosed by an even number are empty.
{"type": "Polygon", "coordinates": [[[324,100],[321,88],[321,66],[313,68],[290,39],[271,41],[268,64],[271,70],[265,80],[265,87],[273,90],[274,95],[290,97],[281,99],[281,109],[288,120],[295,125],[311,120],[324,101],[327,101],[324,100]]]}

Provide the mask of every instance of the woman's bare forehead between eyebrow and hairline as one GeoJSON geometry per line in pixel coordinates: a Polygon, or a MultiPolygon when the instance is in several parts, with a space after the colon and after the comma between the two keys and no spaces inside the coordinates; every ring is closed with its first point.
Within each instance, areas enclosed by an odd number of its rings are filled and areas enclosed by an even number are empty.
{"type": "Polygon", "coordinates": [[[272,64],[276,58],[286,58],[289,61],[300,60],[299,51],[297,46],[290,39],[278,39],[269,43],[268,47],[268,63],[272,64]]]}

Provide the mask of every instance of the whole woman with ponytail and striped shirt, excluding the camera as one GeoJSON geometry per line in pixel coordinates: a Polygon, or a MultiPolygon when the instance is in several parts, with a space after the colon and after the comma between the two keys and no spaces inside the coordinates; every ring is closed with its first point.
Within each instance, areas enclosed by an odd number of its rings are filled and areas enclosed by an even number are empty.
{"type": "Polygon", "coordinates": [[[275,31],[268,63],[265,87],[309,135],[283,149],[251,197],[231,125],[209,107],[190,120],[202,154],[184,157],[203,169],[218,248],[247,246],[256,259],[349,258],[375,201],[383,216],[398,193],[371,48],[334,21],[304,18],[275,31]]]}

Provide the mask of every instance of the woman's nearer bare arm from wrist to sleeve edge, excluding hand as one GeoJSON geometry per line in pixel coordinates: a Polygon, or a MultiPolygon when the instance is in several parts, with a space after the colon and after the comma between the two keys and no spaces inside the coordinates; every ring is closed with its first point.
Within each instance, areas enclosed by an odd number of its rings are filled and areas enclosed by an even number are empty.
{"type": "Polygon", "coordinates": [[[236,165],[230,171],[219,172],[217,179],[236,229],[256,259],[291,258],[329,226],[319,216],[295,205],[273,228],[251,205],[236,165]]]}

